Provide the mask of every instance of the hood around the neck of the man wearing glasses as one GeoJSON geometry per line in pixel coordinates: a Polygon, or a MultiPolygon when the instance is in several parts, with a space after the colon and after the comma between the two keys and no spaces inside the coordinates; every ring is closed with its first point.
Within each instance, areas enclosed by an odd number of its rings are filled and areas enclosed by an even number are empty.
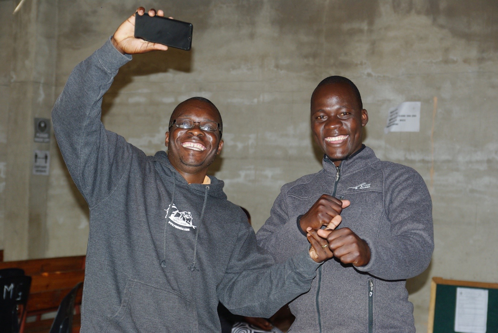
{"type": "MultiPolygon", "coordinates": [[[[154,166],[161,177],[166,178],[171,182],[176,182],[176,185],[189,188],[191,191],[198,193],[199,195],[204,195],[206,192],[205,184],[189,184],[185,178],[180,175],[180,173],[171,165],[169,162],[168,155],[165,151],[158,151],[154,156],[151,156],[154,161],[154,166]]],[[[211,184],[209,184],[209,196],[219,199],[227,199],[227,195],[223,192],[223,187],[225,182],[219,180],[215,176],[209,176],[211,179],[211,184]]]]}

